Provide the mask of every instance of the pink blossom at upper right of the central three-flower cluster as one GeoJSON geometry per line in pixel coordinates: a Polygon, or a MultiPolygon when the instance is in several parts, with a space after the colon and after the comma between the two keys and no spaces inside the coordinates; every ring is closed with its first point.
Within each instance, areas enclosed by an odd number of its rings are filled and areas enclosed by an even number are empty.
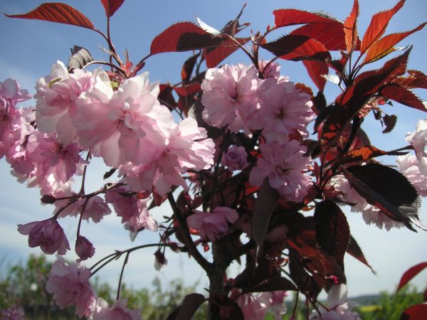
{"type": "Polygon", "coordinates": [[[310,96],[293,82],[266,79],[260,83],[260,121],[268,142],[282,141],[298,130],[307,133],[307,124],[314,116],[310,96]]]}

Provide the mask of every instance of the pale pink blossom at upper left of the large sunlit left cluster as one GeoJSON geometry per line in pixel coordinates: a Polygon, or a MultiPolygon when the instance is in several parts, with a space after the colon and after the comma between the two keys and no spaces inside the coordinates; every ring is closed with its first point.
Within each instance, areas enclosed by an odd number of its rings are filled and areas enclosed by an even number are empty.
{"type": "Polygon", "coordinates": [[[78,141],[71,117],[75,113],[75,101],[92,87],[92,73],[74,69],[68,73],[61,61],[52,66],[51,74],[40,78],[36,84],[36,118],[41,132],[58,134],[65,145],[78,141]]]}

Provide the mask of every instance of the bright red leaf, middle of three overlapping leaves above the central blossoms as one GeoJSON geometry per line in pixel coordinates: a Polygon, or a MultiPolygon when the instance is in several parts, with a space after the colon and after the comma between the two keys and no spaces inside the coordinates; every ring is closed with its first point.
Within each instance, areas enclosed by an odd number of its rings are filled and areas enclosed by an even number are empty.
{"type": "Polygon", "coordinates": [[[338,21],[306,24],[290,34],[313,38],[322,43],[327,50],[344,50],[346,48],[342,23],[338,21]]]}

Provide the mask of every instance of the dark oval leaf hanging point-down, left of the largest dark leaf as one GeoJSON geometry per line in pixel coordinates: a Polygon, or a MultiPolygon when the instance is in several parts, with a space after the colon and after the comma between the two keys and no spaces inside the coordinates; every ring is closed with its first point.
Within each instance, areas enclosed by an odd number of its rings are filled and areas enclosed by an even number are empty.
{"type": "Polygon", "coordinates": [[[314,217],[317,243],[343,265],[350,241],[350,228],[344,213],[336,203],[325,200],[316,203],[314,217]]]}

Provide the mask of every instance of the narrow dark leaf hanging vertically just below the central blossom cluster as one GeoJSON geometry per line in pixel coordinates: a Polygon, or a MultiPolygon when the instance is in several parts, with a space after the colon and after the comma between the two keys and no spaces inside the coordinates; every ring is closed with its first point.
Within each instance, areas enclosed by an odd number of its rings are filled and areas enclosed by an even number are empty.
{"type": "Polygon", "coordinates": [[[278,202],[278,192],[271,188],[268,180],[265,179],[258,191],[258,198],[255,201],[255,209],[252,216],[252,237],[257,244],[257,256],[263,247],[265,235],[268,231],[268,224],[276,203],[278,202]]]}

